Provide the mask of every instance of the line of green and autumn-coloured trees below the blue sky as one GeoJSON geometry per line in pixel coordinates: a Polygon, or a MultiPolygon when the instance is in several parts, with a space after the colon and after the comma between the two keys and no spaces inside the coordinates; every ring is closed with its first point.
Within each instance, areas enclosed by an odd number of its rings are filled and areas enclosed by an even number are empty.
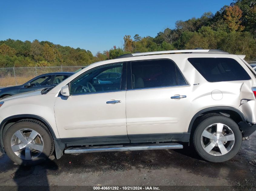
{"type": "Polygon", "coordinates": [[[200,18],[176,21],[175,28],[166,28],[156,37],[124,36],[121,47],[98,52],[56,45],[48,41],[0,41],[0,67],[89,65],[114,59],[125,53],[175,49],[222,49],[231,54],[256,58],[256,1],[236,0],[215,14],[205,12],[200,18]]]}

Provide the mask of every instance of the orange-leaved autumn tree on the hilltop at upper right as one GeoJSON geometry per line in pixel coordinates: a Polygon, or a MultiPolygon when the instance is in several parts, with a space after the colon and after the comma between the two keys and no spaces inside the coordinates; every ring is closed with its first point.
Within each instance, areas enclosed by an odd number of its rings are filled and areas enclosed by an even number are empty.
{"type": "Polygon", "coordinates": [[[237,6],[229,6],[226,8],[226,14],[224,18],[231,31],[242,31],[244,27],[241,25],[242,10],[237,6]]]}

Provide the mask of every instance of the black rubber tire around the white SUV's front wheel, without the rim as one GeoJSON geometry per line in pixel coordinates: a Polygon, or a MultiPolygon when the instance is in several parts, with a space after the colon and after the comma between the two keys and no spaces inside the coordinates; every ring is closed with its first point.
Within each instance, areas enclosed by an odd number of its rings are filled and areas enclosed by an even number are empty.
{"type": "Polygon", "coordinates": [[[50,134],[48,128],[35,119],[22,119],[12,126],[10,126],[4,135],[4,149],[8,157],[17,164],[24,165],[24,166],[32,166],[36,164],[40,164],[53,153],[54,151],[54,143],[52,135],[50,134]],[[43,150],[42,153],[35,159],[32,160],[25,160],[19,158],[13,151],[11,147],[11,139],[15,132],[21,129],[31,129],[38,132],[43,140],[43,150]]]}

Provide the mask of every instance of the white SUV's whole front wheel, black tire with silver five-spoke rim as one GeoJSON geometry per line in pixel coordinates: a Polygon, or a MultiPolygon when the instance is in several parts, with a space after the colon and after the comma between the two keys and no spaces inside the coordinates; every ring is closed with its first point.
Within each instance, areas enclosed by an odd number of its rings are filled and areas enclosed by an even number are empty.
{"type": "Polygon", "coordinates": [[[15,163],[32,166],[48,159],[54,151],[54,144],[52,135],[43,123],[35,119],[22,119],[6,130],[4,149],[15,163]]]}

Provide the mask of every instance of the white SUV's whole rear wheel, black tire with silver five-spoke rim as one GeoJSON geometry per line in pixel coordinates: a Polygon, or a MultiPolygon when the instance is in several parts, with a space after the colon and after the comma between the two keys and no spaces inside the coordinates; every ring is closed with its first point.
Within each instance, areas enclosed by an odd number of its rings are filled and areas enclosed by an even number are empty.
{"type": "Polygon", "coordinates": [[[204,160],[224,162],[233,158],[240,150],[242,133],[231,118],[218,114],[207,115],[198,121],[193,134],[193,145],[204,160]]]}

